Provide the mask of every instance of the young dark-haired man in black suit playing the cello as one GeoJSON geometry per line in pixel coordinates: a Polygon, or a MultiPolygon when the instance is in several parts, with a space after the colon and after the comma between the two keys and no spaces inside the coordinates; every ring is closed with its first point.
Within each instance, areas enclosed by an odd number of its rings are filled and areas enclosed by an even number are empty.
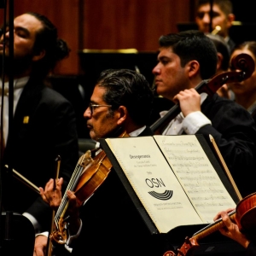
{"type": "Polygon", "coordinates": [[[153,69],[156,91],[178,102],[182,110],[160,133],[203,134],[207,140],[211,134],[241,195],[253,193],[256,126],[252,117],[236,102],[195,90],[216,73],[217,53],[211,39],[203,32],[187,31],[161,36],[159,43],[159,62],[153,69]]]}

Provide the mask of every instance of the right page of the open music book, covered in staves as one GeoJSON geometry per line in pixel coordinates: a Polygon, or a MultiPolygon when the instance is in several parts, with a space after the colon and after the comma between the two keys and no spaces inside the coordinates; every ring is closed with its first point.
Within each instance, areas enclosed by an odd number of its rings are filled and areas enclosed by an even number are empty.
{"type": "Polygon", "coordinates": [[[202,219],[212,223],[217,212],[236,207],[194,135],[154,136],[154,139],[202,219]]]}

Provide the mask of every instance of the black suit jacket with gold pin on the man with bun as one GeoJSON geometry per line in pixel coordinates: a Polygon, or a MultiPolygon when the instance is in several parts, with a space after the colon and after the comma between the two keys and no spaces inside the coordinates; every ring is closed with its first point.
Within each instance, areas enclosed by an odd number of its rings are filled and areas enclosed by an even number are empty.
{"type": "MultiPolygon", "coordinates": [[[[12,127],[4,151],[4,164],[44,188],[49,178],[55,177],[55,158],[60,155],[59,177],[69,181],[79,160],[76,119],[70,102],[42,82],[31,79],[21,93],[12,127]]],[[[2,182],[5,210],[29,212],[44,230],[49,227],[51,210],[40,195],[15,178],[9,178],[5,170],[2,182]]]]}

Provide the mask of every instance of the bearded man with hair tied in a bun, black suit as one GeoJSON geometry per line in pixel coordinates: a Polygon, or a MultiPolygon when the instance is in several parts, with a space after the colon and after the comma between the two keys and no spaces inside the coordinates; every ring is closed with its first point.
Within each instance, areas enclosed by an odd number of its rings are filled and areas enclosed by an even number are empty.
{"type": "MultiPolygon", "coordinates": [[[[46,75],[67,57],[67,43],[58,38],[56,27],[44,15],[36,13],[26,13],[14,20],[14,60],[11,67],[8,27],[5,42],[3,39],[2,35],[0,70],[5,90],[9,88],[10,76],[14,76],[14,119],[9,137],[9,96],[6,91],[4,105],[0,106],[4,114],[2,128],[5,142],[1,164],[11,165],[39,187],[54,177],[55,159],[60,155],[61,177],[67,183],[79,159],[75,113],[70,102],[44,84],[46,75]]],[[[2,81],[0,84],[2,88],[2,81]]],[[[24,213],[34,224],[36,232],[44,224],[44,229],[48,227],[50,207],[24,183],[9,177],[3,166],[3,209],[24,213]]]]}

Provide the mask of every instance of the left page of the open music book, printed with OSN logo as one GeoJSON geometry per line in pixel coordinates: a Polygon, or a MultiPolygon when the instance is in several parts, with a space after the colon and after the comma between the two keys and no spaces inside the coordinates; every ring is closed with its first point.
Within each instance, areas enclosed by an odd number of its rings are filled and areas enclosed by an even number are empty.
{"type": "Polygon", "coordinates": [[[206,223],[195,212],[153,137],[106,142],[160,233],[179,225],[206,223]]]}

